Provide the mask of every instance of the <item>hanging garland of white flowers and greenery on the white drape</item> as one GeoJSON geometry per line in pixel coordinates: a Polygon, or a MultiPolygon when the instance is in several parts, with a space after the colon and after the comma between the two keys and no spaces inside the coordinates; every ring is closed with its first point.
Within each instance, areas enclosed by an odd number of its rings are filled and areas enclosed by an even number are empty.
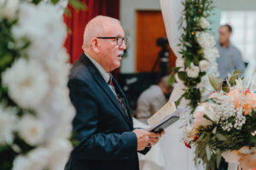
{"type": "Polygon", "coordinates": [[[180,54],[182,59],[177,59],[176,67],[172,68],[170,82],[175,81],[177,74],[185,86],[183,95],[177,99],[187,99],[191,111],[212,92],[207,74],[218,76],[216,58],[219,57],[218,49],[214,47],[214,38],[210,31],[207,17],[212,10],[212,0],[185,0],[183,2],[183,16],[180,28],[183,34],[180,38],[180,54]]]}

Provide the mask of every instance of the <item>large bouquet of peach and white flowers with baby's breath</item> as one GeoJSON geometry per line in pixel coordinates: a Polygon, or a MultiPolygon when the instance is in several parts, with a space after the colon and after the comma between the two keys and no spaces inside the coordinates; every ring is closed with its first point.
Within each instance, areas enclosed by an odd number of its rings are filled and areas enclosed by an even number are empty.
{"type": "Polygon", "coordinates": [[[256,94],[235,73],[219,91],[218,79],[209,78],[216,92],[196,107],[187,131],[186,146],[195,145],[195,163],[202,160],[207,169],[218,167],[221,156],[239,165],[242,155],[256,152],[256,94]]]}

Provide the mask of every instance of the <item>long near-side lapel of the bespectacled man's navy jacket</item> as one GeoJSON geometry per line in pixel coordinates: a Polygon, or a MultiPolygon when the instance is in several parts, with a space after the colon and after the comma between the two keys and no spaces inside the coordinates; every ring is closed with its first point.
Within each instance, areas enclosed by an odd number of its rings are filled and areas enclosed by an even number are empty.
{"type": "MultiPolygon", "coordinates": [[[[125,122],[127,122],[129,124],[130,127],[132,127],[132,124],[129,120],[129,118],[127,116],[125,116],[125,112],[124,110],[121,108],[121,106],[119,105],[115,95],[113,94],[113,92],[111,91],[111,89],[108,87],[108,83],[105,82],[105,80],[103,79],[101,73],[96,69],[96,66],[93,65],[93,63],[90,61],[90,59],[88,59],[88,57],[86,57],[85,54],[83,54],[81,56],[81,61],[84,63],[84,65],[87,65],[87,67],[89,68],[89,71],[91,73],[91,75],[94,77],[94,79],[96,80],[96,82],[99,84],[99,86],[102,88],[102,90],[104,91],[105,94],[108,95],[108,98],[113,102],[113,105],[115,105],[115,107],[119,110],[119,112],[121,112],[121,115],[125,118],[125,122]]],[[[115,82],[116,83],[116,82],[115,82]]],[[[117,83],[116,83],[117,84],[117,83]]],[[[122,93],[123,95],[123,93],[122,93]]],[[[130,108],[128,108],[129,110],[130,108]]],[[[130,111],[129,111],[130,113],[130,111]]],[[[131,115],[131,114],[129,114],[131,115]]]]}

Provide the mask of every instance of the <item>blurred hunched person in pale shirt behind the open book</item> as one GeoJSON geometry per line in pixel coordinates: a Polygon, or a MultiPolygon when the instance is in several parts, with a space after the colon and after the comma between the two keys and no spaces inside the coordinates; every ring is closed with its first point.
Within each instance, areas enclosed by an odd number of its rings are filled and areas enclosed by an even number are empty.
{"type": "Polygon", "coordinates": [[[162,77],[157,85],[151,85],[137,100],[137,119],[148,124],[150,116],[165,105],[172,93],[172,86],[168,84],[169,76],[162,77]]]}

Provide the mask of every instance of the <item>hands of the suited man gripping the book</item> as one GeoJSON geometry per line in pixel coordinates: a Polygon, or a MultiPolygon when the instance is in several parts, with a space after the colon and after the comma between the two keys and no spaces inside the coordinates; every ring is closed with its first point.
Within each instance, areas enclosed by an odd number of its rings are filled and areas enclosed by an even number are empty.
{"type": "Polygon", "coordinates": [[[165,133],[165,131],[161,133],[150,133],[144,129],[135,129],[133,132],[137,136],[137,150],[144,150],[146,147],[156,144],[165,133]]]}

